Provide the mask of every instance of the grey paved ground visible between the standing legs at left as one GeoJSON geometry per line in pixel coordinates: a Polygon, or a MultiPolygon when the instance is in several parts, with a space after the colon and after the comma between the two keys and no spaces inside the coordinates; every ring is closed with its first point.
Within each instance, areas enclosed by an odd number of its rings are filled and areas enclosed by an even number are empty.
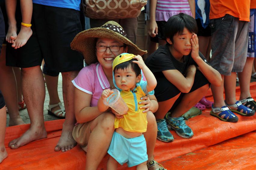
{"type": "MultiPolygon", "coordinates": [[[[57,117],[54,117],[52,115],[49,115],[48,114],[48,105],[49,105],[49,93],[48,93],[48,90],[46,88],[46,84],[45,84],[45,91],[46,91],[46,94],[45,94],[45,103],[44,103],[44,120],[45,121],[48,121],[48,120],[57,120],[59,118],[57,117]]],[[[58,81],[58,94],[59,94],[59,97],[60,97],[60,101],[62,102],[63,104],[63,95],[62,95],[62,76],[61,74],[59,75],[59,81],[58,81]]],[[[64,104],[63,104],[64,106],[64,104]]],[[[29,115],[28,115],[28,111],[27,109],[23,109],[23,110],[20,110],[20,116],[22,117],[23,121],[25,123],[30,123],[30,119],[29,119],[29,115]]],[[[9,114],[7,114],[7,121],[6,121],[6,126],[9,126],[9,114]]]]}

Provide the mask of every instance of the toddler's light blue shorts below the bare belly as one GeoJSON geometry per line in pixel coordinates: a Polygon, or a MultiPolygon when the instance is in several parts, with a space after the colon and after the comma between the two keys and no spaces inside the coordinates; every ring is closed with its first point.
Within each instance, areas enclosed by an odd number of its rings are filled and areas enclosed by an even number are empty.
{"type": "Polygon", "coordinates": [[[139,165],[148,160],[144,135],[127,139],[114,132],[108,153],[121,165],[127,163],[128,167],[139,165]]]}

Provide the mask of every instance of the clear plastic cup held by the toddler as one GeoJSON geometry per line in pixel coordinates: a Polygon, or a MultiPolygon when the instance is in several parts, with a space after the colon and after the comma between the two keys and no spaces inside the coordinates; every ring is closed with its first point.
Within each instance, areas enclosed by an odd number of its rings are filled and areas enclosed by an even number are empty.
{"type": "Polygon", "coordinates": [[[113,89],[111,91],[114,93],[103,100],[104,105],[113,108],[119,114],[125,114],[128,111],[128,106],[122,99],[119,90],[113,89]]]}

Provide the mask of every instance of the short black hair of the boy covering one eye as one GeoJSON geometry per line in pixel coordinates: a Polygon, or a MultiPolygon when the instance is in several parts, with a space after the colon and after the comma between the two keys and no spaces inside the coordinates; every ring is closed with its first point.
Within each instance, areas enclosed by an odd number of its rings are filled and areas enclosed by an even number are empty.
{"type": "Polygon", "coordinates": [[[170,38],[171,42],[174,43],[174,35],[181,35],[184,28],[187,28],[190,33],[197,34],[198,28],[196,20],[190,15],[184,13],[174,15],[170,17],[167,23],[165,24],[165,37],[170,38]]]}

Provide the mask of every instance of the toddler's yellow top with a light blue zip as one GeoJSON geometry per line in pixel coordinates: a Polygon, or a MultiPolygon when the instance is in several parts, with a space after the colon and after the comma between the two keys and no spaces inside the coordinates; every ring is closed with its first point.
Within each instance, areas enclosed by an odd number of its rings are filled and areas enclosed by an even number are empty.
{"type": "Polygon", "coordinates": [[[134,91],[122,90],[120,95],[128,106],[127,114],[123,115],[124,118],[116,118],[114,127],[122,127],[128,132],[146,132],[147,131],[147,113],[143,113],[138,103],[140,98],[146,96],[141,87],[136,87],[134,91]],[[135,92],[137,91],[137,92],[135,92]]]}

